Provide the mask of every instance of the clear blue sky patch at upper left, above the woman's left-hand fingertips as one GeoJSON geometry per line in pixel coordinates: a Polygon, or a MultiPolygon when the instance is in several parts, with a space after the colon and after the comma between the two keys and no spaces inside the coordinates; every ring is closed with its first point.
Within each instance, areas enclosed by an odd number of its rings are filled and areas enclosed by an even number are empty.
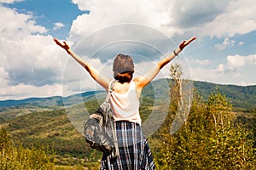
{"type": "Polygon", "coordinates": [[[56,37],[67,37],[72,21],[79,14],[88,14],[89,11],[81,11],[78,5],[71,0],[26,0],[16,3],[5,3],[5,7],[15,8],[17,12],[28,14],[32,13],[34,20],[41,26],[48,29],[50,35],[56,37]],[[64,26],[60,30],[54,30],[55,23],[62,23],[64,26]]]}

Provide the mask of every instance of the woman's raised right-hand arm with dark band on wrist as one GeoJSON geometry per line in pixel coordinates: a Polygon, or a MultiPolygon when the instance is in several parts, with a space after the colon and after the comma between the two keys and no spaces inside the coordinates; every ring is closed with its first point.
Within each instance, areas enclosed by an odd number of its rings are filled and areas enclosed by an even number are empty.
{"type": "Polygon", "coordinates": [[[159,73],[161,68],[163,68],[172,59],[174,59],[177,54],[179,54],[183,50],[183,48],[185,48],[187,45],[189,45],[190,42],[193,42],[195,39],[196,37],[192,37],[188,41],[181,42],[179,47],[173,50],[172,54],[160,60],[160,62],[155,65],[151,70],[147,71],[146,74],[135,78],[134,81],[136,82],[137,90],[142,90],[149,82],[154,79],[154,77],[159,73]]]}

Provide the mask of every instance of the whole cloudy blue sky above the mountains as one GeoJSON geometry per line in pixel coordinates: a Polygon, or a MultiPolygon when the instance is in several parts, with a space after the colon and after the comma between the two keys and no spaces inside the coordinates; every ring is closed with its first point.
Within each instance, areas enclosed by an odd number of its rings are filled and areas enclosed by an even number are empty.
{"type": "Polygon", "coordinates": [[[101,89],[55,37],[112,77],[116,54],[141,75],[195,36],[171,62],[185,78],[256,85],[255,11],[254,0],[0,0],[0,100],[101,89]]]}

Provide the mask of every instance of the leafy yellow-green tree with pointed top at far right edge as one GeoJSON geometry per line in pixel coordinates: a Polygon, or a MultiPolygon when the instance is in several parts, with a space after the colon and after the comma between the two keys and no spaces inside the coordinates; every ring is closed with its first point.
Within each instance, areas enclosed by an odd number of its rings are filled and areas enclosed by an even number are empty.
{"type": "Polygon", "coordinates": [[[250,132],[242,124],[231,122],[230,111],[230,102],[218,89],[209,96],[206,114],[212,119],[207,130],[211,141],[208,162],[218,168],[253,169],[256,161],[253,140],[247,138],[250,132]]]}

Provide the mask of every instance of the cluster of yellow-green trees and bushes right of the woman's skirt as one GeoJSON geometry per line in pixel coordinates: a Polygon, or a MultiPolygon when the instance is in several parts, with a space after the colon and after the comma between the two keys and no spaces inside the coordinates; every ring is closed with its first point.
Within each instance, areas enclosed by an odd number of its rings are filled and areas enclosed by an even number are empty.
{"type": "MultiPolygon", "coordinates": [[[[230,103],[213,92],[207,103],[197,95],[189,120],[174,135],[162,135],[158,169],[255,169],[253,139],[230,121],[230,103]]],[[[170,127],[170,124],[167,125],[170,127]]]]}

